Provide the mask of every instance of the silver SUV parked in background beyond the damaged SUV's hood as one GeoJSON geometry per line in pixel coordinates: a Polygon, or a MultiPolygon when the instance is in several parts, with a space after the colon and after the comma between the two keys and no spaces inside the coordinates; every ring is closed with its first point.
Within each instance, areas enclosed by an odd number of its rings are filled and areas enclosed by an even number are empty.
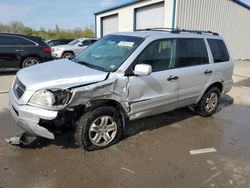
{"type": "Polygon", "coordinates": [[[55,59],[73,57],[96,41],[97,39],[95,38],[79,38],[71,41],[67,45],[54,46],[52,47],[52,56],[55,59]]]}

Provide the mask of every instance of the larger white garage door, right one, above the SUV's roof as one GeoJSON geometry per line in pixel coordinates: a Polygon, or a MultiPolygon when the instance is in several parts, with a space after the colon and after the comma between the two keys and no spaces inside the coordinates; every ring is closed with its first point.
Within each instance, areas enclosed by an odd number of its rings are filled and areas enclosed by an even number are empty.
{"type": "Polygon", "coordinates": [[[136,29],[164,27],[164,3],[138,8],[135,16],[136,29]]]}

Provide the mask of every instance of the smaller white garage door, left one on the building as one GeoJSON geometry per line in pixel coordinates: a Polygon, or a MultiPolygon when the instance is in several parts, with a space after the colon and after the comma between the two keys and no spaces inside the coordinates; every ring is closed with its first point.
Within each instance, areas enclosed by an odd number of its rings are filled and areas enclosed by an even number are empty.
{"type": "Polygon", "coordinates": [[[118,32],[118,14],[102,18],[102,36],[118,32]]]}

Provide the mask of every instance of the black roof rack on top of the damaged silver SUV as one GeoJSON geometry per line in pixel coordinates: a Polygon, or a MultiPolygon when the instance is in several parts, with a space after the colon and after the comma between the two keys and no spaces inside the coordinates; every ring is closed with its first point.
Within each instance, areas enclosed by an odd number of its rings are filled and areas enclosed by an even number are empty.
{"type": "Polygon", "coordinates": [[[179,29],[179,28],[164,28],[164,27],[157,27],[157,28],[146,28],[146,29],[138,29],[136,31],[165,31],[170,33],[180,33],[180,32],[188,32],[188,33],[196,33],[196,34],[212,34],[212,35],[219,35],[216,32],[212,31],[204,31],[204,30],[191,30],[191,29],[179,29]]]}

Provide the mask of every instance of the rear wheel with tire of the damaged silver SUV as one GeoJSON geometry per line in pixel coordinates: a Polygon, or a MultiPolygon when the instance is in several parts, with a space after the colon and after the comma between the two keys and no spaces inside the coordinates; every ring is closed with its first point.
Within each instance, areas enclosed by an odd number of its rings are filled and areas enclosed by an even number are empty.
{"type": "Polygon", "coordinates": [[[219,103],[220,90],[217,87],[212,87],[203,95],[195,110],[200,116],[211,116],[218,109],[219,103]]]}

